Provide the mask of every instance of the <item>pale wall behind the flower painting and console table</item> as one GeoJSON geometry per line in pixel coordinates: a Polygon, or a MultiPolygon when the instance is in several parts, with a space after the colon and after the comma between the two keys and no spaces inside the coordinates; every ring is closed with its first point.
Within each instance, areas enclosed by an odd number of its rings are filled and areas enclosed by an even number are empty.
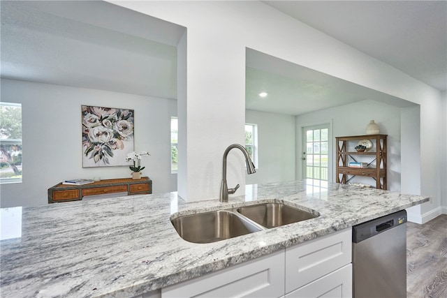
{"type": "Polygon", "coordinates": [[[81,105],[135,110],[135,151],[153,193],[170,188],[170,117],[176,100],[132,94],[1,80],[1,100],[22,103],[23,178],[1,185],[1,207],[47,204],[47,189],[65,179],[130,177],[129,167],[82,168],[81,105]]]}

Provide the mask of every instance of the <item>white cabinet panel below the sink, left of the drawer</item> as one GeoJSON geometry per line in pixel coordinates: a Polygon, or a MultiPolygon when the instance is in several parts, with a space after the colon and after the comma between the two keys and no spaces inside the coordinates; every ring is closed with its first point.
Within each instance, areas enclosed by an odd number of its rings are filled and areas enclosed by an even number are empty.
{"type": "Polygon", "coordinates": [[[161,297],[281,297],[284,250],[161,289],[161,297]]]}

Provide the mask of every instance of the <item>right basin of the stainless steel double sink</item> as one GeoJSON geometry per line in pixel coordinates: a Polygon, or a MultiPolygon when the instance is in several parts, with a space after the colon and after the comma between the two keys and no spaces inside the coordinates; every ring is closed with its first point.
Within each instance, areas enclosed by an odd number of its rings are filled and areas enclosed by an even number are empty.
{"type": "Polygon", "coordinates": [[[237,212],[269,229],[318,217],[318,215],[281,203],[263,203],[239,207],[237,212]]]}

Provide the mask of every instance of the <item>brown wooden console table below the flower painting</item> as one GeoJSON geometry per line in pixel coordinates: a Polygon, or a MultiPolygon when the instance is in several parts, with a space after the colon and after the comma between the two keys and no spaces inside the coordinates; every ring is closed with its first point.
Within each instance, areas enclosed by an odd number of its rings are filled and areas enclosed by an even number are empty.
{"type": "Polygon", "coordinates": [[[149,177],[142,177],[134,180],[105,179],[91,184],[68,185],[57,184],[48,188],[48,203],[79,201],[85,195],[103,195],[105,193],[122,193],[127,195],[145,195],[152,193],[152,180],[149,177]]]}

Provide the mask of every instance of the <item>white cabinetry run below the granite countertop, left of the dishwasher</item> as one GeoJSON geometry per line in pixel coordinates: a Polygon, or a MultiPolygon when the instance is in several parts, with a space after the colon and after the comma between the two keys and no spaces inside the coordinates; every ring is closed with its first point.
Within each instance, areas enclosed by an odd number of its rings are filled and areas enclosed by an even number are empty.
{"type": "Polygon", "coordinates": [[[348,228],[170,285],[161,298],[352,297],[351,234],[348,228]]]}

